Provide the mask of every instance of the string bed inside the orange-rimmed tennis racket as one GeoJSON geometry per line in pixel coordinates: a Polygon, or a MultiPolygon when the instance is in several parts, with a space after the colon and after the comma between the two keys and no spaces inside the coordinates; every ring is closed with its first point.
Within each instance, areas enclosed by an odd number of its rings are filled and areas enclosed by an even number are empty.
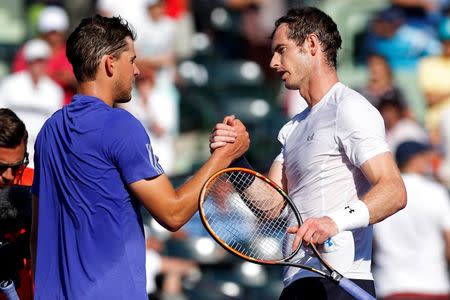
{"type": "Polygon", "coordinates": [[[265,261],[292,253],[284,249],[292,211],[267,182],[242,171],[224,173],[211,183],[204,199],[206,221],[228,247],[265,261]]]}

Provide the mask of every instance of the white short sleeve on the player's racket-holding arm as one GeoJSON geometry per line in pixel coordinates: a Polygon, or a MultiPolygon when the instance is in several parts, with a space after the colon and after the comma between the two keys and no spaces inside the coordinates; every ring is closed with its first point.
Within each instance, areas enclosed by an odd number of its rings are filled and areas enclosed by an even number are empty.
{"type": "Polygon", "coordinates": [[[390,151],[383,118],[362,97],[345,99],[340,103],[336,127],[338,143],[357,167],[378,154],[390,151]]]}

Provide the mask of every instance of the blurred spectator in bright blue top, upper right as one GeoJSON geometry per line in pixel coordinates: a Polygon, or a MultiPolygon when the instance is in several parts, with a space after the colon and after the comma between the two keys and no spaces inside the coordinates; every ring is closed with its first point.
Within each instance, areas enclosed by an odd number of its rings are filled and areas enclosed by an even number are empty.
{"type": "Polygon", "coordinates": [[[438,54],[440,44],[433,36],[406,24],[401,10],[387,8],[369,24],[363,49],[384,56],[394,71],[408,71],[416,69],[421,57],[438,54]]]}

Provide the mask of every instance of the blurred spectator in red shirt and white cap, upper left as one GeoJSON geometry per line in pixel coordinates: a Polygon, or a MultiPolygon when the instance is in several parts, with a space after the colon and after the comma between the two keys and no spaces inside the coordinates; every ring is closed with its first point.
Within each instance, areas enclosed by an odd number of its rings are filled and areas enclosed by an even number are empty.
{"type": "MultiPolygon", "coordinates": [[[[66,57],[66,32],[69,29],[69,18],[63,8],[45,7],[38,18],[40,37],[50,46],[46,73],[64,90],[64,104],[68,104],[75,93],[76,80],[72,66],[66,57]]],[[[13,72],[27,68],[23,48],[19,50],[12,65],[13,72]]]]}

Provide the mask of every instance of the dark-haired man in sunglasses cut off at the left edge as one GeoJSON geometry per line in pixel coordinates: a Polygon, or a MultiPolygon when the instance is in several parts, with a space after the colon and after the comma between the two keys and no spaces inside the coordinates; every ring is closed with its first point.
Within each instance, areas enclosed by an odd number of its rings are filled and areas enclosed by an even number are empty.
{"type": "MultiPolygon", "coordinates": [[[[33,181],[33,169],[27,168],[27,139],[22,120],[12,110],[0,108],[0,281],[14,279],[22,300],[33,298],[27,251],[31,221],[25,211],[31,199],[28,190],[17,187],[33,181]]],[[[4,299],[1,292],[0,299],[4,299]]]]}

